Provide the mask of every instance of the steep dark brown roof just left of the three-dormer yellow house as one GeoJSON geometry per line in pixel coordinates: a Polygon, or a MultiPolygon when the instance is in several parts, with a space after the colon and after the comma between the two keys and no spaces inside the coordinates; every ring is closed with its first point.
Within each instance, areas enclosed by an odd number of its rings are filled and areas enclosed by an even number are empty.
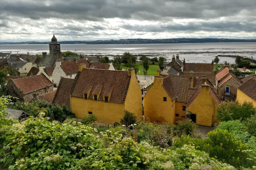
{"type": "Polygon", "coordinates": [[[61,77],[58,89],[53,98],[53,102],[59,106],[66,105],[70,108],[70,91],[74,79],[61,77]]]}

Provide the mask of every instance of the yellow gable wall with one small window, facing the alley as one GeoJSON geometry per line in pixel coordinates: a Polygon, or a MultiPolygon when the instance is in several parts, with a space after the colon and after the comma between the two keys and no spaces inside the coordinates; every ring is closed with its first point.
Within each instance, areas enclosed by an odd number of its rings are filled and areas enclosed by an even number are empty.
{"type": "Polygon", "coordinates": [[[144,97],[144,114],[149,117],[150,122],[168,122],[175,124],[175,100],[172,101],[164,90],[160,77],[155,77],[154,85],[144,97]],[[163,101],[163,97],[167,101],[163,101]],[[173,106],[172,106],[173,105],[173,106]]]}

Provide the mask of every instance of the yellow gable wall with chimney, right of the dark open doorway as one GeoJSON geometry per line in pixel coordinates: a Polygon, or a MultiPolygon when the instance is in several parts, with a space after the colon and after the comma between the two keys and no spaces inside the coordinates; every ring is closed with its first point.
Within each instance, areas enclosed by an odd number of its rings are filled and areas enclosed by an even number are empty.
{"type": "Polygon", "coordinates": [[[202,87],[201,94],[187,108],[192,114],[196,114],[196,124],[212,126],[216,122],[215,112],[219,103],[209,94],[209,86],[202,87]]]}

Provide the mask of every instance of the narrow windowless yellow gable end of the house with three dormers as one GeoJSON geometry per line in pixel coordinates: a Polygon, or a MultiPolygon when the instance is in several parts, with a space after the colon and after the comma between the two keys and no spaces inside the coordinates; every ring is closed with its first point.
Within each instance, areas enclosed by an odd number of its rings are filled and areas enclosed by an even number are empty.
{"type": "Polygon", "coordinates": [[[131,80],[125,98],[124,106],[125,110],[134,113],[137,117],[137,120],[139,120],[142,116],[141,90],[134,70],[131,70],[131,74],[131,80]]]}

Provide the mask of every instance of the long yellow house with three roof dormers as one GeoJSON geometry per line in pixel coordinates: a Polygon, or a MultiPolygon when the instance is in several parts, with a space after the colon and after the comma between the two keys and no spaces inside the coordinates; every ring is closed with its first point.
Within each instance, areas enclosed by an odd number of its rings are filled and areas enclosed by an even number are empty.
{"type": "Polygon", "coordinates": [[[141,90],[135,71],[114,71],[83,68],[70,95],[70,108],[77,118],[96,114],[97,122],[114,124],[124,117],[125,110],[142,115],[141,90]]]}

